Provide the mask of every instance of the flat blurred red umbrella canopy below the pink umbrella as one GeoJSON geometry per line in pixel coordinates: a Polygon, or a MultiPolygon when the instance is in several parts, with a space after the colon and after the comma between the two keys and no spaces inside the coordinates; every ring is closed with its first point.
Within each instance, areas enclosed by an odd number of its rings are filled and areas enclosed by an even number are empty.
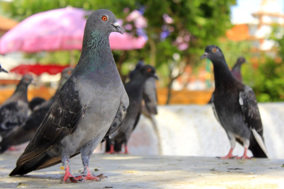
{"type": "Polygon", "coordinates": [[[16,74],[28,74],[29,72],[33,72],[36,75],[41,75],[44,72],[49,73],[51,75],[55,75],[61,73],[61,71],[68,66],[58,66],[58,65],[20,65],[10,70],[10,72],[14,72],[16,74]]]}

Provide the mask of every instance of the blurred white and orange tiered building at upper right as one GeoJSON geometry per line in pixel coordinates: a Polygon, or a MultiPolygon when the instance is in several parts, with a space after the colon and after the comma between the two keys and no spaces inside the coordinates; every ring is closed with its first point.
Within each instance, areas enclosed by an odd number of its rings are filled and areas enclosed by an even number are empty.
{"type": "MultiPolygon", "coordinates": [[[[262,0],[259,10],[252,13],[254,19],[248,23],[236,24],[226,32],[227,38],[235,41],[249,40],[256,51],[265,51],[274,56],[275,41],[270,37],[274,27],[284,26],[283,8],[276,0],[262,0]]],[[[278,37],[282,38],[282,35],[279,33],[278,37]]]]}

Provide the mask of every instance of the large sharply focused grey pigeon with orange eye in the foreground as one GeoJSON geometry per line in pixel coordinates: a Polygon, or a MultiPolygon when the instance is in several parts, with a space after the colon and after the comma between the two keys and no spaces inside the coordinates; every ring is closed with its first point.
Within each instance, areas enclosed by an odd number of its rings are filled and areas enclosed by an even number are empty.
{"type": "Polygon", "coordinates": [[[124,33],[112,12],[99,9],[89,15],[78,64],[10,176],[62,162],[63,183],[106,178],[89,170],[89,159],[101,141],[117,134],[129,105],[109,45],[111,32],[124,33]],[[78,154],[84,169],[75,177],[69,164],[78,154]]]}

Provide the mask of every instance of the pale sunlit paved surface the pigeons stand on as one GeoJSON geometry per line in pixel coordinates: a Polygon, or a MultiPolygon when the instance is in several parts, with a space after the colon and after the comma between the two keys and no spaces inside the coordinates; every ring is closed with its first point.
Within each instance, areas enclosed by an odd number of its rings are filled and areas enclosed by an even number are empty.
{"type": "MultiPolygon", "coordinates": [[[[0,156],[0,188],[284,188],[284,160],[219,160],[212,157],[93,154],[90,167],[109,178],[101,182],[61,183],[61,165],[9,177],[19,154],[0,156]]],[[[80,156],[71,170],[83,170],[80,156]]]]}

